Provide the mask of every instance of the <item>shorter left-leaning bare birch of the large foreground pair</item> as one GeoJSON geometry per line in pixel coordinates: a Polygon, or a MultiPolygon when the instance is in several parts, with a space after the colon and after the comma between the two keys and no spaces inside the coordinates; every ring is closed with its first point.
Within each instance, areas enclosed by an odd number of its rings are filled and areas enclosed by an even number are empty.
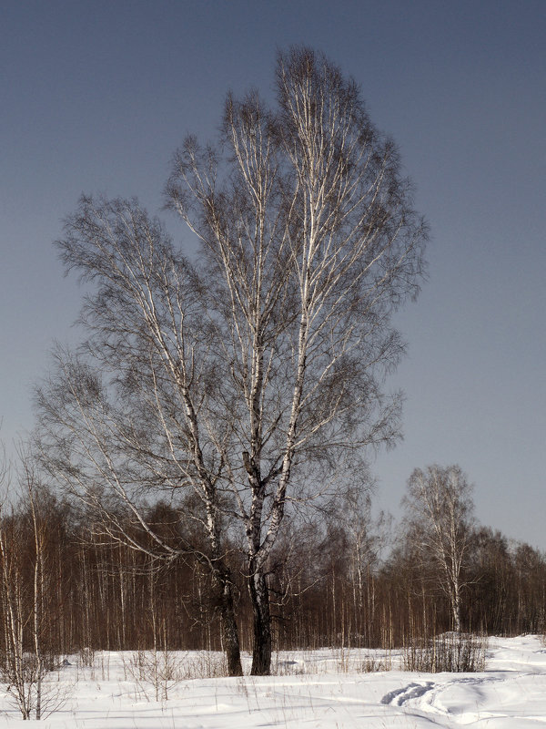
{"type": "Polygon", "coordinates": [[[228,671],[238,675],[223,464],[201,436],[211,415],[204,402],[217,386],[200,284],[134,200],[83,198],[60,246],[67,267],[97,291],[83,308],[85,346],[79,354],[58,350],[55,373],[36,393],[42,460],[106,539],[152,560],[191,555],[210,570],[228,671]],[[180,514],[171,539],[148,518],[166,496],[180,514]]]}

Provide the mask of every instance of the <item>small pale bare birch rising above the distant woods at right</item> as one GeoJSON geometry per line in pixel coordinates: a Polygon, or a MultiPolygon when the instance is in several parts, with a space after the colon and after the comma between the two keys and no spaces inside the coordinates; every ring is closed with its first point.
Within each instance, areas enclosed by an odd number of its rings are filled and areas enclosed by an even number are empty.
{"type": "Polygon", "coordinates": [[[409,539],[423,564],[432,565],[450,602],[453,627],[461,629],[464,568],[473,536],[472,486],[459,466],[416,468],[403,499],[409,539]]]}

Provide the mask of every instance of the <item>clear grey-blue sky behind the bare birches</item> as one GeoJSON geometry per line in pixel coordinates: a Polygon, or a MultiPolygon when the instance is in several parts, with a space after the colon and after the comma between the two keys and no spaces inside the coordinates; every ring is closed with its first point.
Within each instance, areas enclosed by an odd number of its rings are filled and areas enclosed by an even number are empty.
{"type": "MultiPolygon", "coordinates": [[[[404,440],[372,465],[399,517],[415,467],[457,463],[480,523],[546,549],[546,2],[26,2],[0,20],[0,436],[33,427],[82,290],[53,241],[82,192],[160,210],[188,132],[227,90],[273,95],[278,48],[354,77],[430,224],[429,281],[396,323],[404,440]]],[[[167,227],[184,244],[176,221],[167,227]]]]}

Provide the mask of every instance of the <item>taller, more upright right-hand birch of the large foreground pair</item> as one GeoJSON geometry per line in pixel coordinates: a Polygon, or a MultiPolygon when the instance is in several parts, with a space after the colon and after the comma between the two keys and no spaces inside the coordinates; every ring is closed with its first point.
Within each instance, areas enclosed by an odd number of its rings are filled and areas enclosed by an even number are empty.
{"type": "Polygon", "coordinates": [[[354,81],[297,47],[278,56],[277,98],[228,96],[224,155],[188,138],[167,187],[202,243],[218,332],[208,432],[247,536],[253,673],[269,670],[268,558],[288,502],[354,477],[364,447],[398,435],[381,387],[402,351],[389,318],[417,292],[426,238],[354,81]]]}

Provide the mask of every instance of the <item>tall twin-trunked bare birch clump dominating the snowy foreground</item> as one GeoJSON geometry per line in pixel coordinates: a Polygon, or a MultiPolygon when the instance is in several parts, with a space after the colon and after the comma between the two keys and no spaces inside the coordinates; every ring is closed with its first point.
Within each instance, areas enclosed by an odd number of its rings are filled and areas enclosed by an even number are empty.
{"type": "Polygon", "coordinates": [[[234,655],[238,521],[255,674],[270,670],[268,562],[287,509],[348,479],[364,488],[366,448],[399,435],[390,316],[418,291],[426,239],[351,79],[295,48],[278,56],[277,92],[272,109],[229,95],[217,148],[188,138],[177,152],[167,204],[201,243],[193,265],[136,201],[81,200],[59,246],[96,284],[89,337],[38,395],[50,467],[110,537],[127,541],[121,509],[168,559],[192,545],[161,539],[143,497],[193,505],[234,655]]]}

